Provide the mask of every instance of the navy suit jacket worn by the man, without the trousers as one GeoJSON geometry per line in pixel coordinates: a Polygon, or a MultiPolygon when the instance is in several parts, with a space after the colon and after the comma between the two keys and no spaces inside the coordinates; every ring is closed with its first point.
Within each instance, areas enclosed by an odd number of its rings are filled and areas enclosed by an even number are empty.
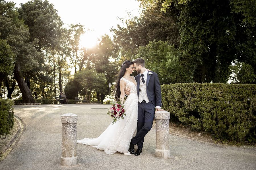
{"type": "MultiPolygon", "coordinates": [[[[147,82],[146,82],[147,96],[149,101],[152,101],[152,103],[155,106],[161,107],[162,96],[161,96],[161,86],[160,86],[159,78],[155,72],[148,71],[148,73],[150,72],[152,74],[147,75],[147,82]]],[[[135,80],[137,81],[137,94],[139,97],[141,74],[137,75],[135,77],[135,80]]]]}

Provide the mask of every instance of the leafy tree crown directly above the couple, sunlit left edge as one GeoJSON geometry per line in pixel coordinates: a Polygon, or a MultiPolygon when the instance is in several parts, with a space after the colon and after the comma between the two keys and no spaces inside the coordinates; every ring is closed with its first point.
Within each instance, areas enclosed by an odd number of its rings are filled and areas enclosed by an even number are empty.
{"type": "Polygon", "coordinates": [[[161,12],[162,1],[148,3],[141,1],[141,16],[123,21],[125,26],[117,25],[112,29],[114,43],[119,48],[122,61],[134,59],[140,46],[150,41],[169,41],[178,46],[179,32],[176,24],[176,13],[161,12]]]}

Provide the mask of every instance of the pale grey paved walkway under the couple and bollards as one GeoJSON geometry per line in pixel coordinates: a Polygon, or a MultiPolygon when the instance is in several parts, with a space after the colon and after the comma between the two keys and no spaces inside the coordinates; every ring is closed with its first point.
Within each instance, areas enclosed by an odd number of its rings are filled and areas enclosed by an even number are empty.
{"type": "Polygon", "coordinates": [[[256,148],[241,148],[193,141],[170,135],[172,158],[154,156],[155,129],[145,137],[140,156],[120,153],[107,155],[86,145],[77,145],[79,164],[61,167],[61,118],[78,115],[77,138],[98,137],[111,122],[106,114],[110,105],[15,106],[15,115],[26,123],[26,130],[14,150],[0,162],[1,170],[53,169],[230,169],[255,170],[256,148]]]}

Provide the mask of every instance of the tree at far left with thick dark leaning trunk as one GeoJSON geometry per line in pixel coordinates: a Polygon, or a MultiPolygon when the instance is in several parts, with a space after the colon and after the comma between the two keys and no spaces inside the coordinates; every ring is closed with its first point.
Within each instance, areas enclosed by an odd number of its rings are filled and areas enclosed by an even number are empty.
{"type": "Polygon", "coordinates": [[[34,46],[37,44],[35,39],[33,42],[29,41],[29,32],[22,20],[18,19],[18,12],[14,7],[14,3],[5,3],[1,1],[1,6],[6,7],[6,10],[0,16],[0,33],[1,39],[5,39],[11,46],[13,54],[15,55],[14,77],[18,83],[20,91],[22,92],[22,99],[24,103],[34,103],[32,93],[22,73],[38,67],[37,58],[41,57],[34,46]],[[7,9],[8,7],[8,9],[7,9]]]}

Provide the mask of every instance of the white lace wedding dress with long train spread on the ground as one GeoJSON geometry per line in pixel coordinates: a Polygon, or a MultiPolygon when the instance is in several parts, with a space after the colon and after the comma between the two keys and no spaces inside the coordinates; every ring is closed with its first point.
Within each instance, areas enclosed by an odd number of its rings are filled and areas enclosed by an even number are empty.
{"type": "MultiPolygon", "coordinates": [[[[131,76],[134,80],[135,77],[131,76]]],[[[124,102],[125,114],[124,119],[121,119],[114,124],[112,122],[108,128],[98,138],[84,138],[78,140],[77,143],[83,145],[96,146],[99,150],[104,150],[106,154],[114,154],[115,152],[127,153],[130,142],[134,133],[136,133],[138,121],[138,95],[137,82],[136,85],[125,79],[125,87],[130,88],[131,92],[124,102]]]]}

